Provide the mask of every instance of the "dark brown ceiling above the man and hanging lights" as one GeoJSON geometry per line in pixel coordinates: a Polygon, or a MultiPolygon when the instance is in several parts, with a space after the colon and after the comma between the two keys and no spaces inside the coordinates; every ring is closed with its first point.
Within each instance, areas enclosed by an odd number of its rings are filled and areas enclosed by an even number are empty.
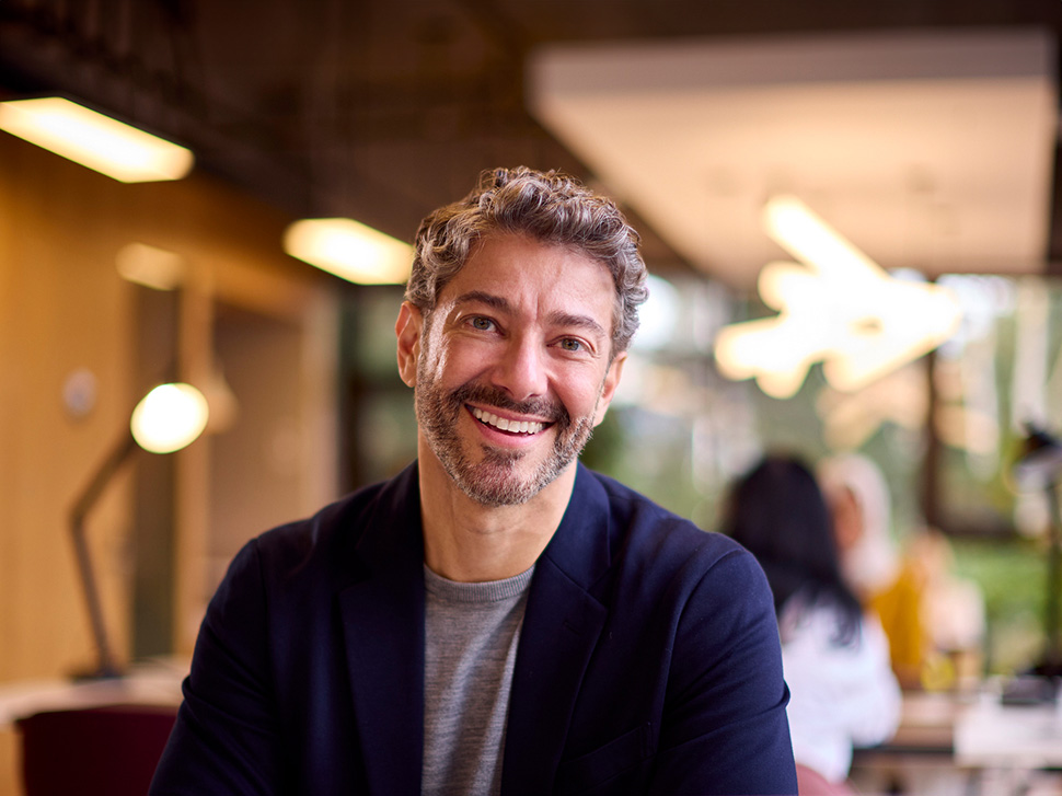
{"type": "Polygon", "coordinates": [[[593,177],[526,109],[539,45],[971,26],[1058,36],[1062,0],[2,0],[0,92],[66,93],[292,216],[408,240],[481,169],[593,177]]]}

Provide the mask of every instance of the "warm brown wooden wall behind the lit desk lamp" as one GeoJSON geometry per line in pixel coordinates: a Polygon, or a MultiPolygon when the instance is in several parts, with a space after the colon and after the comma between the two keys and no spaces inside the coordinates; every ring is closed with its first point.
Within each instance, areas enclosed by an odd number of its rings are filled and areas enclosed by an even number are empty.
{"type": "MultiPolygon", "coordinates": [[[[139,288],[117,275],[117,252],[142,242],[187,264],[193,287],[182,300],[181,367],[196,376],[210,364],[216,299],[297,324],[328,303],[331,278],[280,251],[288,221],[208,175],[125,185],[0,134],[0,684],[65,677],[93,660],[67,512],[137,397],[132,291],[139,288]],[[97,393],[92,411],[78,418],[64,407],[62,388],[81,369],[95,377],[97,393]]],[[[273,377],[263,373],[263,382],[273,377]]],[[[326,382],[326,373],[319,377],[326,382]]],[[[307,391],[326,393],[320,384],[307,391]]],[[[308,416],[320,425],[320,406],[308,416]]],[[[185,653],[206,599],[208,446],[205,438],[178,454],[174,626],[175,647],[185,653]]],[[[313,472],[328,477],[320,465],[313,472]]],[[[130,481],[126,473],[112,484],[89,523],[106,615],[123,650],[130,481]]]]}

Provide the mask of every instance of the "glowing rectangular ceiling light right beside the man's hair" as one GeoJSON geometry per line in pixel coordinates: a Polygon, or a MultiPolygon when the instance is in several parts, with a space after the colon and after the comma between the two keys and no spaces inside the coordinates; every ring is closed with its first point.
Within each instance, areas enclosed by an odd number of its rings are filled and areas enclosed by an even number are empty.
{"type": "Polygon", "coordinates": [[[349,218],[296,221],[284,251],[359,285],[401,285],[413,266],[413,246],[349,218]]]}

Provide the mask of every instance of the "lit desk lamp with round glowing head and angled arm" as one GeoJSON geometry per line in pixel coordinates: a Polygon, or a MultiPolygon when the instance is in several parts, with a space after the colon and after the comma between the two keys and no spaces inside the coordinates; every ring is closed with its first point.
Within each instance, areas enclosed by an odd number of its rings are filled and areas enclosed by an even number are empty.
{"type": "Polygon", "coordinates": [[[70,532],[99,656],[96,669],[89,674],[90,678],[118,677],[122,672],[114,658],[103,620],[103,607],[85,539],[85,517],[134,451],[138,448],[152,453],[173,453],[181,450],[206,428],[207,414],[206,399],[191,384],[161,384],[151,390],[132,411],[128,430],[103,460],[84,492],[73,504],[70,511],[70,532]]]}

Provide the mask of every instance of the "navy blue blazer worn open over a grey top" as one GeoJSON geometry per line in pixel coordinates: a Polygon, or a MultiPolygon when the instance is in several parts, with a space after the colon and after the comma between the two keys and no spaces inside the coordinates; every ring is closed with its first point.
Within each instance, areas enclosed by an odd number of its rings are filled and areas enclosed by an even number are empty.
{"type": "MultiPolygon", "coordinates": [[[[418,794],[423,561],[416,464],[252,540],[151,794],[418,794]]],[[[795,794],[787,700],[753,557],[579,464],[530,585],[503,794],[795,794]]]]}

